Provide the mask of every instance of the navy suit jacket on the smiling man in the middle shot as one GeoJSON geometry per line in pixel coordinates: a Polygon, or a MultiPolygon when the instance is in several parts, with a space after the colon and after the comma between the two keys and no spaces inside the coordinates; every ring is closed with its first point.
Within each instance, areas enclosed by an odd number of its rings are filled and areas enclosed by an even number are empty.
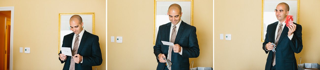
{"type": "MultiPolygon", "coordinates": [[[[171,22],[159,26],[159,31],[156,39],[156,45],[153,47],[158,66],[156,70],[163,70],[165,63],[159,62],[157,59],[159,54],[168,54],[169,46],[163,45],[161,41],[170,41],[171,22]]],[[[182,47],[182,55],[179,53],[171,54],[172,70],[189,70],[189,58],[196,58],[200,54],[198,39],[196,35],[196,27],[191,26],[181,21],[174,44],[179,44],[182,47]]]]}

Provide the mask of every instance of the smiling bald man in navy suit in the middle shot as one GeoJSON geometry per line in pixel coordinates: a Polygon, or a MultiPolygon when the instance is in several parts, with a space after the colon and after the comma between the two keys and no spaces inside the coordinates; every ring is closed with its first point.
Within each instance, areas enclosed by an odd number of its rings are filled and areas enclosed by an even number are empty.
{"type": "Polygon", "coordinates": [[[153,47],[158,61],[156,70],[189,70],[189,58],[200,54],[196,27],[181,20],[182,12],[178,4],[170,5],[168,15],[170,22],[159,26],[153,47]],[[172,42],[174,46],[164,45],[161,41],[172,42]]]}

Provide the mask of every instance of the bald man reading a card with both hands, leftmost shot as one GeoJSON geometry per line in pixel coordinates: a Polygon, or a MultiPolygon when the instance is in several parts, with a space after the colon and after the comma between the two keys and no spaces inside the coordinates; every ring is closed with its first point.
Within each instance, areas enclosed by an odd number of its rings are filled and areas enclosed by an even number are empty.
{"type": "Polygon", "coordinates": [[[99,37],[85,31],[82,18],[73,15],[70,18],[70,30],[73,33],[63,37],[62,47],[70,48],[72,56],[59,53],[59,60],[64,63],[63,70],[92,70],[92,66],[102,63],[99,37]]]}

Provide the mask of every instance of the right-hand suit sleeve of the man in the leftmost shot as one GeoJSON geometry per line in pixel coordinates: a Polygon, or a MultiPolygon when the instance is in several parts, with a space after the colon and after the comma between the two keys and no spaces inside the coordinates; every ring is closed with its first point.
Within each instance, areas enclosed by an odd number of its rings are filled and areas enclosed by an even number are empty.
{"type": "Polygon", "coordinates": [[[95,36],[92,43],[92,56],[83,56],[82,66],[99,66],[102,64],[102,54],[99,44],[99,37],[95,36]]]}

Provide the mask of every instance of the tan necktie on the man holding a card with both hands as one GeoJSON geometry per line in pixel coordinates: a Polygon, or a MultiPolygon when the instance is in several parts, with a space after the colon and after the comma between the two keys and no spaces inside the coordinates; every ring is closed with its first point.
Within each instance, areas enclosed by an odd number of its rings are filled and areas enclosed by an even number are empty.
{"type": "MultiPolygon", "coordinates": [[[[79,47],[79,35],[76,35],[75,44],[73,45],[72,56],[75,56],[78,52],[79,47]]],[[[75,70],[75,61],[71,57],[70,70],[75,70]]]]}

